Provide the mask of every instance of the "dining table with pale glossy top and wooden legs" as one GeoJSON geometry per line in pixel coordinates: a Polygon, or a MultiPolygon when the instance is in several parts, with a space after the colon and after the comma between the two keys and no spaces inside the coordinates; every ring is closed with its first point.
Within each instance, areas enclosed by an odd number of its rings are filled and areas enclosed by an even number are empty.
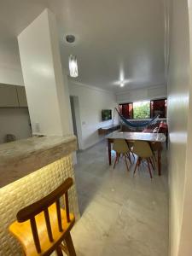
{"type": "MultiPolygon", "coordinates": [[[[148,132],[125,132],[113,131],[107,136],[108,140],[108,163],[111,166],[111,144],[114,139],[125,139],[127,142],[145,141],[148,143],[165,143],[166,136],[163,133],[148,133],[148,132]]],[[[157,147],[157,163],[158,174],[161,175],[161,152],[162,147],[157,147]]]]}

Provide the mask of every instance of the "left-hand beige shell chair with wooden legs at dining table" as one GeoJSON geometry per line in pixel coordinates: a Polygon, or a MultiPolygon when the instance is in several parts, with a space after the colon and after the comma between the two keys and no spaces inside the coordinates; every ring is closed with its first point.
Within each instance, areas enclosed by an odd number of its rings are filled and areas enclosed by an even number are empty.
{"type": "Polygon", "coordinates": [[[113,150],[116,151],[116,159],[114,161],[113,169],[116,164],[119,162],[119,157],[122,154],[125,159],[126,169],[129,172],[129,167],[127,164],[126,159],[128,158],[131,163],[131,156],[130,156],[130,148],[124,139],[114,139],[113,141],[113,150]]]}

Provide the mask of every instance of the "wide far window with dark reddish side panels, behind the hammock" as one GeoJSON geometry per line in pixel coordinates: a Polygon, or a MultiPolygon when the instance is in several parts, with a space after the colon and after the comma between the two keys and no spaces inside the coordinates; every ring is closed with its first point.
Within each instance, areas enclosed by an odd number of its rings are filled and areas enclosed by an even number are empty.
{"type": "Polygon", "coordinates": [[[166,118],[166,99],[120,104],[119,112],[125,119],[149,119],[157,114],[166,118]]]}

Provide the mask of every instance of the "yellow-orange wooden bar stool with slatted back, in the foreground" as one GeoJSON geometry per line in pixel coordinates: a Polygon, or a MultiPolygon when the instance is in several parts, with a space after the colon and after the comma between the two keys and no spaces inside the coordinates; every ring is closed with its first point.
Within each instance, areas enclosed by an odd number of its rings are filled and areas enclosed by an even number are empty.
{"type": "Polygon", "coordinates": [[[17,213],[17,221],[9,226],[9,231],[20,241],[24,255],[50,255],[54,251],[57,256],[63,255],[62,251],[76,255],[70,235],[75,218],[69,212],[67,194],[72,185],[73,179],[68,177],[49,195],[17,213]],[[60,206],[63,195],[65,209],[60,206]]]}

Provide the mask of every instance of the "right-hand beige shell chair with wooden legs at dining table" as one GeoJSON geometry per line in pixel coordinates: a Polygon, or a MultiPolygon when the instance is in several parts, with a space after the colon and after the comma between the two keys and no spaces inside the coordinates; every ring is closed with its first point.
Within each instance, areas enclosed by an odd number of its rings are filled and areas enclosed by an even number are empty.
{"type": "Polygon", "coordinates": [[[137,156],[138,156],[137,163],[136,163],[135,170],[134,170],[134,174],[136,173],[137,167],[140,166],[141,161],[142,160],[147,160],[148,172],[150,174],[150,177],[152,178],[150,165],[154,169],[154,165],[153,165],[153,162],[152,162],[153,152],[151,150],[151,147],[150,147],[149,143],[145,142],[145,141],[135,141],[132,151],[133,151],[134,154],[137,154],[137,156]]]}

